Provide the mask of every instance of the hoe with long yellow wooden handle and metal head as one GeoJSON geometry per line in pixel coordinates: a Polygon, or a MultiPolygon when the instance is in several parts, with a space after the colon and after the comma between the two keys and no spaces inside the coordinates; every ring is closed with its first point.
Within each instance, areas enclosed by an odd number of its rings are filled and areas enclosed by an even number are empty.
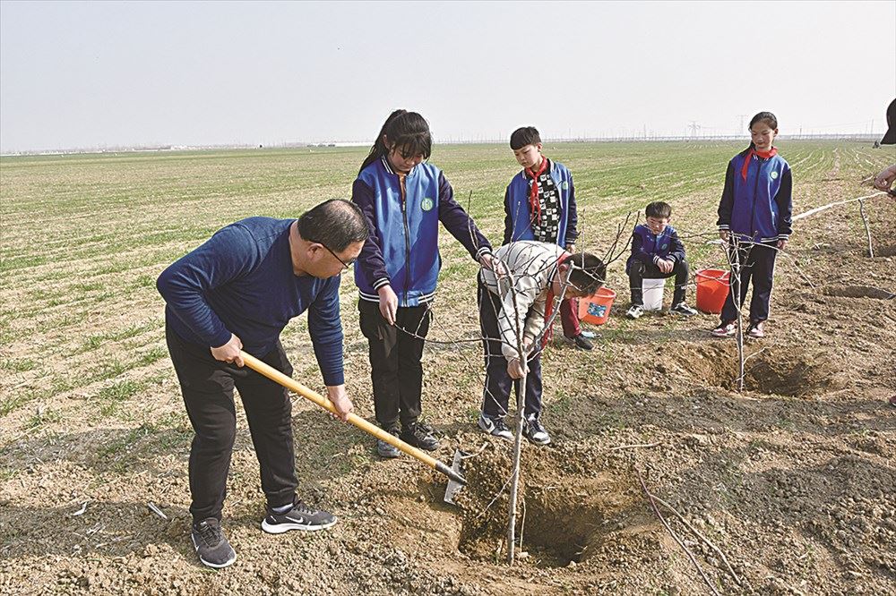
{"type": "MultiPolygon", "coordinates": [[[[264,362],[258,360],[253,355],[248,354],[246,352],[240,351],[240,356],[243,358],[243,362],[246,362],[246,366],[255,372],[264,375],[268,379],[279,383],[283,387],[288,388],[290,391],[297,393],[299,396],[305,397],[309,402],[314,402],[321,406],[324,410],[329,413],[337,414],[336,407],[332,404],[332,402],[321,394],[317,393],[305,387],[301,383],[297,382],[294,379],[290,379],[285,374],[280,372],[264,362]]],[[[462,487],[466,486],[467,480],[461,475],[461,461],[463,460],[463,454],[461,451],[454,452],[454,460],[452,462],[452,467],[448,467],[443,464],[439,460],[435,459],[435,457],[427,456],[426,453],[420,451],[417,447],[412,447],[389,432],[379,428],[375,424],[371,424],[370,422],[364,420],[360,416],[349,413],[349,420],[351,424],[357,426],[360,430],[364,430],[366,433],[373,435],[375,438],[378,438],[386,443],[389,443],[393,447],[398,447],[404,453],[409,456],[417,458],[419,461],[433,468],[434,470],[444,473],[445,476],[448,477],[448,488],[445,490],[444,501],[446,503],[454,503],[454,495],[457,494],[462,487]]]]}

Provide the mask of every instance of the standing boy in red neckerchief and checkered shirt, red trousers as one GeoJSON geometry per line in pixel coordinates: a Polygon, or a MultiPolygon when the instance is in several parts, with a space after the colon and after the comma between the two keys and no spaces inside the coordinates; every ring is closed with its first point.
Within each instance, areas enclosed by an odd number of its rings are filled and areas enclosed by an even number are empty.
{"type": "MultiPolygon", "coordinates": [[[[532,126],[514,131],[510,147],[522,171],[513,176],[504,193],[504,244],[534,240],[575,252],[578,216],[573,175],[541,154],[541,137],[532,126]]],[[[564,336],[578,349],[594,347],[582,334],[574,298],[561,302],[560,320],[564,336]]]]}

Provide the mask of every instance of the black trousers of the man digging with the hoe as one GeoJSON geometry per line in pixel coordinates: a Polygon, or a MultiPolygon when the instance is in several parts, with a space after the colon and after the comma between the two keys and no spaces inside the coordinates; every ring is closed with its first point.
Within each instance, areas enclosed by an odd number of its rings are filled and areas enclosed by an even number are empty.
{"type": "MultiPolygon", "coordinates": [[[[194,523],[207,517],[221,518],[230,454],[237,435],[234,387],[243,400],[268,506],[292,503],[298,482],[292,403],[287,390],[254,370],[215,360],[208,347],[186,342],[168,325],[165,336],[195,432],[189,466],[193,497],[190,513],[194,523]]],[[[292,374],[280,341],[261,360],[286,375],[292,374]]]]}

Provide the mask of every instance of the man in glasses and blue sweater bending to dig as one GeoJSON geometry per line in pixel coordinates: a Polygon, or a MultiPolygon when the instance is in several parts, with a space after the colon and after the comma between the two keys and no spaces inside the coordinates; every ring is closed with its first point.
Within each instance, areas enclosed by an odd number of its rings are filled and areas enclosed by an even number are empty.
{"type": "Polygon", "coordinates": [[[159,276],[168,352],[195,436],[190,449],[193,544],[203,565],[237,555],[221,531],[239,391],[261,466],[265,532],[323,530],[336,516],[296,497],[292,408],[287,390],[243,368],[240,350],[291,375],[280,332],[308,311],[308,332],[327,397],[348,418],[342,372],[340,273],[367,238],[360,210],[328,200],[294,219],[249,217],[224,227],[159,276]]]}

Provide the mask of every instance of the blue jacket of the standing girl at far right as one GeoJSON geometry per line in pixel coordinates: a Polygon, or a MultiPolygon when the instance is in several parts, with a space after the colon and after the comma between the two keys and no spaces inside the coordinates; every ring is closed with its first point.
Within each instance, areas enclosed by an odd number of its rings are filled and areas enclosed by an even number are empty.
{"type": "Polygon", "coordinates": [[[793,223],[790,166],[780,155],[768,159],[751,155],[744,180],[741,170],[748,153],[746,149],[728,162],[719,201],[719,230],[755,243],[787,240],[793,223]]]}

